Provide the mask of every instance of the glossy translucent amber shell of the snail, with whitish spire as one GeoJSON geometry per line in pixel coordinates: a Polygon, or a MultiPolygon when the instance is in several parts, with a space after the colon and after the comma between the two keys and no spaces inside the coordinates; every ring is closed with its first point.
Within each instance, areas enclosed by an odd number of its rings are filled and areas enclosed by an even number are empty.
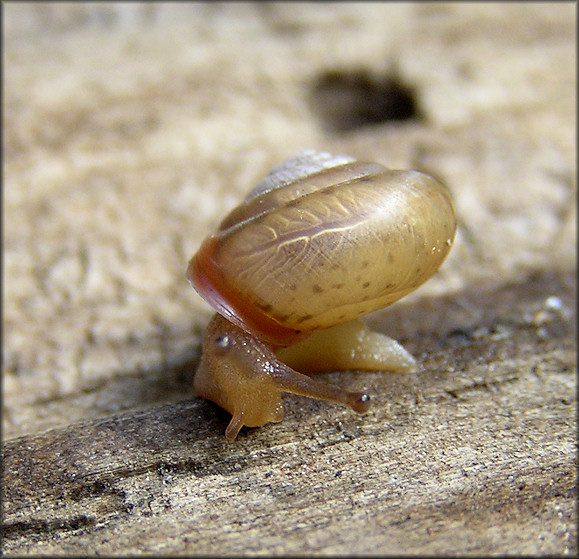
{"type": "Polygon", "coordinates": [[[223,220],[187,276],[239,328],[287,346],[415,290],[455,230],[450,196],[432,177],[308,151],[223,220]]]}

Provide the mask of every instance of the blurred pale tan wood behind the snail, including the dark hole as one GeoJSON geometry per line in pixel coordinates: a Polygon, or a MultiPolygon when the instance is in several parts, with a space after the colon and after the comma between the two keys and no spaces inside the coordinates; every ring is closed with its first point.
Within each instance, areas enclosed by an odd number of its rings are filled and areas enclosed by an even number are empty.
{"type": "Polygon", "coordinates": [[[211,310],[187,262],[302,149],[448,185],[455,246],[409,301],[575,269],[574,4],[6,3],[3,16],[5,438],[192,397],[211,310]]]}

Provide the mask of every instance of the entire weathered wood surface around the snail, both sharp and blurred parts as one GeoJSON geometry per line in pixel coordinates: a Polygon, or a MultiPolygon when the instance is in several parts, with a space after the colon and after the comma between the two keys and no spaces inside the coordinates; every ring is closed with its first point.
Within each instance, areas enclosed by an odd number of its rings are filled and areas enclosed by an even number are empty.
{"type": "Polygon", "coordinates": [[[3,10],[4,554],[577,553],[573,4],[3,10]],[[228,443],[185,268],[306,148],[439,177],[455,245],[368,317],[416,374],[228,443]]]}

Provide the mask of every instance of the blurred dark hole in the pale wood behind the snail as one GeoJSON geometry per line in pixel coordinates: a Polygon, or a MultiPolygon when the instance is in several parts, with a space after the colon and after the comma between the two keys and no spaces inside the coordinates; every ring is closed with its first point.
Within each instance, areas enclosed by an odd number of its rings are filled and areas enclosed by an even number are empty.
{"type": "Polygon", "coordinates": [[[318,76],[312,85],[311,106],[329,132],[421,119],[413,88],[396,77],[373,76],[363,70],[318,76]]]}

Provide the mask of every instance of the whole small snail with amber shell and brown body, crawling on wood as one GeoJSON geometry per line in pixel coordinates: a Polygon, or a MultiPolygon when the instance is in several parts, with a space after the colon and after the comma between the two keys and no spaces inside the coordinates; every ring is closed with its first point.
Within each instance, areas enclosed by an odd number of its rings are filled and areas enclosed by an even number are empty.
{"type": "Polygon", "coordinates": [[[217,311],[194,389],[232,414],[227,439],[281,421],[283,392],[369,409],[369,395],[304,373],[415,370],[359,317],[431,277],[455,230],[448,191],[421,172],[313,150],[272,169],[187,268],[217,311]]]}

